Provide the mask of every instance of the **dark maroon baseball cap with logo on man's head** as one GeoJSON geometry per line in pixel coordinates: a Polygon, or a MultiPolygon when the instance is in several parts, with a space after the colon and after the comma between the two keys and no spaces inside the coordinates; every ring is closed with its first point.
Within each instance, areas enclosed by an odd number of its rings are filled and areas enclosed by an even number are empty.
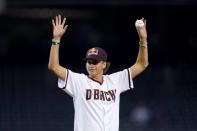
{"type": "Polygon", "coordinates": [[[107,52],[100,47],[93,47],[87,51],[86,57],[84,60],[87,60],[87,59],[107,61],[107,52]]]}

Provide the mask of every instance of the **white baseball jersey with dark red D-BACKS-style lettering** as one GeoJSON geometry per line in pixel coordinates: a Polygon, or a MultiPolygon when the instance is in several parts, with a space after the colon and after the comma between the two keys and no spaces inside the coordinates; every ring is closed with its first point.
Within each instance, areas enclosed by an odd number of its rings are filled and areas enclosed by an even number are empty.
{"type": "Polygon", "coordinates": [[[133,88],[130,69],[103,75],[103,83],[67,70],[58,86],[73,97],[74,131],[119,130],[120,93],[133,88]]]}

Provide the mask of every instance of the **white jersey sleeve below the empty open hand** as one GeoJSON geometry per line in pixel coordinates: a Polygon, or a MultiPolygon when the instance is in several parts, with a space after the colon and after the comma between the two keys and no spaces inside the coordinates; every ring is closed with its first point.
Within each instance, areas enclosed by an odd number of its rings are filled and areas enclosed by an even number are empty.
{"type": "Polygon", "coordinates": [[[65,80],[58,79],[58,87],[64,90],[67,94],[75,97],[79,88],[79,80],[82,75],[79,73],[72,72],[67,69],[67,77],[65,80]]]}

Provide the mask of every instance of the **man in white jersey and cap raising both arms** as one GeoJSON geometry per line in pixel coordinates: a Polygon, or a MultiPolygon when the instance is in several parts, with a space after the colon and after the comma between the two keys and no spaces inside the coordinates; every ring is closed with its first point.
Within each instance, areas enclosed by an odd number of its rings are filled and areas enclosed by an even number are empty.
{"type": "Polygon", "coordinates": [[[59,46],[67,30],[66,18],[52,19],[53,39],[48,68],[58,79],[58,87],[73,98],[74,131],[118,131],[120,94],[133,88],[133,78],[148,66],[146,20],[136,26],[139,51],[136,62],[127,69],[104,75],[109,68],[107,53],[100,47],[85,56],[88,75],[75,73],[59,64],[59,46]]]}

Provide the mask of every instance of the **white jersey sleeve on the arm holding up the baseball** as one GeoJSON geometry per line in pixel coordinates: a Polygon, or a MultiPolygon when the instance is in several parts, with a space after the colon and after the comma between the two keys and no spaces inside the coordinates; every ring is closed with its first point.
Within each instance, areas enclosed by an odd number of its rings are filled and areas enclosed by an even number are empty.
{"type": "Polygon", "coordinates": [[[109,77],[118,85],[120,93],[134,88],[130,68],[113,73],[109,77]]]}

